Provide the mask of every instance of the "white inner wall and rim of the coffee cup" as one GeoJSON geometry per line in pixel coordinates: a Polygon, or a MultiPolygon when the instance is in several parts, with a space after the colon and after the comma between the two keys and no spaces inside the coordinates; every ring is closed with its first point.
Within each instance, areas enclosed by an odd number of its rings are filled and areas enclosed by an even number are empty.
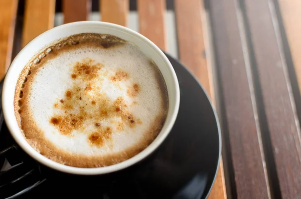
{"type": "Polygon", "coordinates": [[[180,105],[180,90],[178,79],[176,73],[169,62],[168,58],[164,53],[150,40],[144,36],[132,31],[123,26],[105,23],[105,22],[75,22],[70,24],[65,24],[53,28],[45,33],[39,35],[28,43],[16,56],[12,62],[7,75],[5,77],[3,94],[2,94],[2,106],[3,113],[6,124],[16,142],[20,147],[28,153],[32,158],[38,162],[53,168],[55,170],[72,173],[72,174],[83,174],[83,175],[98,175],[110,173],[113,171],[121,170],[123,168],[129,167],[136,162],[139,162],[150,153],[156,150],[160,144],[165,140],[165,138],[170,133],[180,105]],[[137,155],[122,161],[120,163],[98,167],[98,168],[78,168],[72,166],[66,166],[60,163],[57,163],[53,160],[48,159],[47,157],[38,153],[33,149],[30,144],[26,141],[24,135],[22,134],[17,119],[15,116],[14,110],[14,97],[15,97],[15,88],[17,84],[18,77],[28,63],[28,61],[40,52],[41,49],[44,49],[50,44],[53,44],[56,40],[59,40],[64,37],[68,37],[80,33],[100,33],[100,34],[110,34],[116,37],[119,37],[125,41],[135,44],[148,58],[152,59],[157,66],[159,67],[164,80],[166,82],[168,95],[169,95],[169,110],[166,118],[166,122],[157,136],[157,138],[143,151],[137,155]]]}

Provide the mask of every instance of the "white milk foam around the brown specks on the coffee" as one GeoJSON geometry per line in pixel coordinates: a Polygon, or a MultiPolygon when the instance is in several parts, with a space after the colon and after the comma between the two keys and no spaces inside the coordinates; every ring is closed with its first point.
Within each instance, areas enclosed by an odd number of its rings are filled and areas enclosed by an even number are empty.
{"type": "MultiPolygon", "coordinates": [[[[29,110],[37,127],[60,150],[85,156],[120,152],[143,139],[156,116],[162,113],[163,98],[156,70],[147,57],[131,44],[114,49],[86,46],[60,52],[59,56],[47,60],[32,79],[29,110]],[[74,82],[78,81],[80,84],[80,80],[72,79],[72,69],[77,62],[85,59],[91,59],[93,63],[99,63],[103,67],[93,80],[97,89],[87,92],[87,96],[84,97],[92,99],[101,94],[107,96],[109,103],[114,103],[118,97],[122,97],[128,105],[128,110],[141,121],[134,127],[124,125],[123,129],[117,132],[115,123],[111,121],[121,121],[120,117],[102,120],[101,126],[109,126],[112,129],[111,140],[105,141],[102,146],[91,145],[88,141],[90,132],[97,129],[91,122],[85,123],[84,129],[73,130],[70,135],[62,134],[49,122],[53,115],[62,114],[62,110],[55,108],[54,104],[65,97],[66,90],[70,89],[74,82]],[[110,77],[120,69],[128,73],[129,77],[112,82],[110,77]],[[129,96],[127,90],[133,83],[139,85],[139,93],[136,96],[129,96]]],[[[84,88],[86,83],[82,84],[84,88]]],[[[92,113],[98,111],[91,107],[86,109],[92,113]]]]}

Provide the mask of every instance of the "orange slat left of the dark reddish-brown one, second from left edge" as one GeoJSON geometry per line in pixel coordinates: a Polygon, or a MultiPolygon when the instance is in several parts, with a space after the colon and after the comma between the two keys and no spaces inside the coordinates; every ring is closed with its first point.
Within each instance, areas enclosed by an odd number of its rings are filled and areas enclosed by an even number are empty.
{"type": "Polygon", "coordinates": [[[22,46],[53,28],[55,0],[26,0],[22,46]]]}

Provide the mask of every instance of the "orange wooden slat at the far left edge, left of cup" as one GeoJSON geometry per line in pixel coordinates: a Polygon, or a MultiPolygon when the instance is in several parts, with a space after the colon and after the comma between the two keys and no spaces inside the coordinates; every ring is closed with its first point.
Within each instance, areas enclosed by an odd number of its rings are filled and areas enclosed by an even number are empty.
{"type": "Polygon", "coordinates": [[[17,5],[18,0],[0,1],[0,79],[11,63],[17,5]]]}

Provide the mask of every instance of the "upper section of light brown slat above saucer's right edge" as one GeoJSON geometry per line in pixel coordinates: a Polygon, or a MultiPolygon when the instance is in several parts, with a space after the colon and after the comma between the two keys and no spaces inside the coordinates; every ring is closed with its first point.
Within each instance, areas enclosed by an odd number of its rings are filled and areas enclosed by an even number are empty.
{"type": "Polygon", "coordinates": [[[180,60],[210,93],[200,0],[175,0],[180,60]]]}

